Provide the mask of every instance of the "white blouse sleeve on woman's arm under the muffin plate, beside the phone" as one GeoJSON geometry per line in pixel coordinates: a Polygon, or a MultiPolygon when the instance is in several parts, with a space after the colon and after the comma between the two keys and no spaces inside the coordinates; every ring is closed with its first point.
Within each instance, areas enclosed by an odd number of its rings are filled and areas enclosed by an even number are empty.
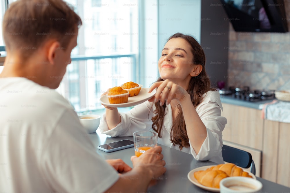
{"type": "Polygon", "coordinates": [[[108,129],[106,114],[103,115],[103,121],[100,123],[100,130],[103,134],[112,137],[133,136],[135,131],[150,130],[152,127],[151,118],[153,115],[153,102],[145,101],[136,105],[127,113],[120,113],[121,122],[111,130],[108,129]]]}

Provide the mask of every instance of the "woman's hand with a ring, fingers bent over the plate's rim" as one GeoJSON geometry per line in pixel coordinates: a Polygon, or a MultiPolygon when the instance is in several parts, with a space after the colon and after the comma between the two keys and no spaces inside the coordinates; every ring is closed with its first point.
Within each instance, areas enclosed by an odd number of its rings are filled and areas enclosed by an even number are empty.
{"type": "Polygon", "coordinates": [[[156,94],[154,97],[149,99],[149,101],[157,102],[158,100],[160,100],[161,106],[164,104],[165,100],[167,101],[167,104],[169,104],[173,99],[181,102],[185,99],[186,95],[188,95],[187,91],[184,88],[169,80],[153,83],[148,92],[152,92],[155,88],[157,88],[156,94]]]}

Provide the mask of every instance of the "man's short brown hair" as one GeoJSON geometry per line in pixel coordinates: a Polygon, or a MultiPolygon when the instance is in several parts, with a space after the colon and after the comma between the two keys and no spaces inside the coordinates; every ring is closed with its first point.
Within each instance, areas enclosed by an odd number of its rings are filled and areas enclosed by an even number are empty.
{"type": "Polygon", "coordinates": [[[47,40],[56,39],[66,49],[81,18],[63,0],[18,0],[3,17],[6,50],[29,57],[47,40]]]}

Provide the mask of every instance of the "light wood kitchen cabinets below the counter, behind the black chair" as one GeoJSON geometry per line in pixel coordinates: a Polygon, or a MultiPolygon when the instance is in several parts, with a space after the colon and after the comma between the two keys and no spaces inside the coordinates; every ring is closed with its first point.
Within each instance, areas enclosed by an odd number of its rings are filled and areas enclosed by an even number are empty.
{"type": "Polygon", "coordinates": [[[257,176],[290,187],[290,124],[263,120],[257,109],[222,105],[224,144],[250,152],[257,176]]]}

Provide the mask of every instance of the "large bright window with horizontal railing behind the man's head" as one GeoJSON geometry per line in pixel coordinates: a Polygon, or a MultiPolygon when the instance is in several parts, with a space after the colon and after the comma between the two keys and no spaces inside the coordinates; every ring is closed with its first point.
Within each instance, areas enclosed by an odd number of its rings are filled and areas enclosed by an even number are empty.
{"type": "MultiPolygon", "coordinates": [[[[9,3],[13,1],[16,0],[9,3]]],[[[56,90],[77,112],[102,113],[104,107],[99,98],[108,88],[128,81],[148,87],[157,79],[157,0],[65,1],[74,7],[83,25],[78,32],[78,45],[71,53],[72,63],[56,90]]],[[[1,1],[0,14],[4,11],[5,3],[1,1]]],[[[0,46],[1,43],[2,38],[0,46]]],[[[0,72],[2,69],[0,63],[0,72]]]]}

